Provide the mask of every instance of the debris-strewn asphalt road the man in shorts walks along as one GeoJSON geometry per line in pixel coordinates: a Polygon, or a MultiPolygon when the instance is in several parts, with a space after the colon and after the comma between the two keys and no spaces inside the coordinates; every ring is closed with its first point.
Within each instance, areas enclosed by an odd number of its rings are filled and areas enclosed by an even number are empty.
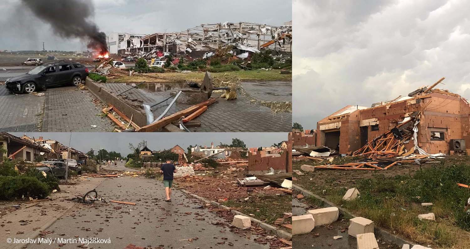
{"type": "MultiPolygon", "coordinates": [[[[89,244],[88,248],[124,249],[133,244],[153,249],[250,248],[267,249],[243,234],[230,232],[225,220],[207,211],[196,199],[173,190],[172,202],[165,202],[162,182],[155,179],[120,177],[106,179],[96,188],[106,200],[135,202],[137,205],[96,202],[77,204],[46,230],[52,244],[30,244],[28,249],[58,248],[57,238],[93,238],[110,243],[89,244]],[[219,223],[218,223],[219,222],[219,223]],[[215,223],[226,226],[215,225],[215,223]]],[[[243,233],[250,235],[249,231],[243,233]]],[[[60,248],[77,248],[67,241],[60,248]]]]}

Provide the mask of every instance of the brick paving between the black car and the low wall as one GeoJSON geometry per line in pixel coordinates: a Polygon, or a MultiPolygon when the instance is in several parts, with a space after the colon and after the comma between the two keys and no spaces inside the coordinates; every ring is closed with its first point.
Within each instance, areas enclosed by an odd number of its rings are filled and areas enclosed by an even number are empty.
{"type": "Polygon", "coordinates": [[[47,89],[42,131],[112,132],[112,121],[101,117],[101,108],[95,106],[93,99],[91,93],[74,86],[47,89]]]}

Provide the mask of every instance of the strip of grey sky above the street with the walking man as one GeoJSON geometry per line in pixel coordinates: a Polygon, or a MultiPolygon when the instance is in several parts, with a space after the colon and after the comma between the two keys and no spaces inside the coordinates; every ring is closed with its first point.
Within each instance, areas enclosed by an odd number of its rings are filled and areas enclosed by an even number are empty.
{"type": "MultiPolygon", "coordinates": [[[[17,137],[26,134],[29,137],[57,140],[68,146],[70,132],[9,132],[17,137]]],[[[90,148],[97,150],[98,147],[108,151],[120,152],[122,156],[131,153],[129,143],[137,145],[142,140],[147,141],[149,149],[162,150],[170,149],[175,145],[181,146],[185,150],[189,145],[219,145],[231,144],[233,138],[238,138],[245,142],[248,148],[269,147],[274,143],[287,140],[286,132],[72,132],[71,147],[82,152],[88,152],[90,148]]]]}

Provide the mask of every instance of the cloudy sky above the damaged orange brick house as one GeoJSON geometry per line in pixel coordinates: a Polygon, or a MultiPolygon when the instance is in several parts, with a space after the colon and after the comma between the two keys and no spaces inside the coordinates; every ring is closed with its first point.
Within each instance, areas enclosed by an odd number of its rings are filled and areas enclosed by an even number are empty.
{"type": "Polygon", "coordinates": [[[294,0],[293,122],[407,95],[446,77],[470,98],[470,1],[294,0]]]}

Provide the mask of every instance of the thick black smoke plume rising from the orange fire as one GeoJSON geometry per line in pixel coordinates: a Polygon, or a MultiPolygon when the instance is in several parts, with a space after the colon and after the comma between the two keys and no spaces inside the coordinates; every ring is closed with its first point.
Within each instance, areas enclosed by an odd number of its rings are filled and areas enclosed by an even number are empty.
{"type": "Polygon", "coordinates": [[[22,0],[39,19],[49,23],[54,32],[64,38],[88,41],[88,48],[100,54],[108,52],[106,34],[89,20],[94,16],[90,0],[22,0]]]}

